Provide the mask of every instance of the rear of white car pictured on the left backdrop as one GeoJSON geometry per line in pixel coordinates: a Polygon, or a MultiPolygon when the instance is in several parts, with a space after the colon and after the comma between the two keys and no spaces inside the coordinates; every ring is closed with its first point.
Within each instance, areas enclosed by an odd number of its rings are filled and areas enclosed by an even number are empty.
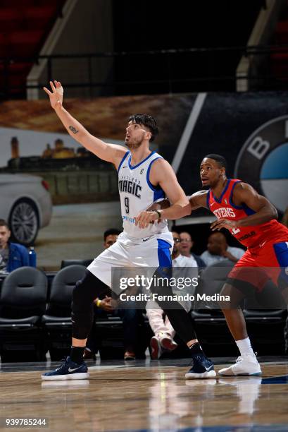
{"type": "Polygon", "coordinates": [[[33,244],[39,228],[51,220],[49,184],[30,174],[0,174],[0,219],[8,222],[11,240],[33,244]]]}

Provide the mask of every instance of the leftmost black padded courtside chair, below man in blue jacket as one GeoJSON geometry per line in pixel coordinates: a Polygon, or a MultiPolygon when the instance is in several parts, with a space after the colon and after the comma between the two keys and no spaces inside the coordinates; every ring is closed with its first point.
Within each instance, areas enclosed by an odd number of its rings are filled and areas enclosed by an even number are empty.
{"type": "Polygon", "coordinates": [[[22,267],[11,272],[0,294],[1,361],[45,360],[41,317],[48,281],[41,270],[22,267]]]}

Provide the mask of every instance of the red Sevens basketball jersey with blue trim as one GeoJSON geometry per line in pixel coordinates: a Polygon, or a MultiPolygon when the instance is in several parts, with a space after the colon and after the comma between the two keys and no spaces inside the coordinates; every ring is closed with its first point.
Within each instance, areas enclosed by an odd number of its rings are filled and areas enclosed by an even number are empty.
{"type": "MultiPolygon", "coordinates": [[[[242,180],[228,179],[225,189],[220,198],[213,196],[211,189],[207,193],[207,207],[217,219],[239,220],[253,215],[254,210],[243,204],[241,206],[233,203],[233,190],[237,183],[242,180]]],[[[231,234],[247,248],[261,246],[264,241],[273,239],[287,239],[288,229],[284,225],[273,219],[260,225],[251,225],[249,227],[239,227],[229,230],[231,234]]]]}

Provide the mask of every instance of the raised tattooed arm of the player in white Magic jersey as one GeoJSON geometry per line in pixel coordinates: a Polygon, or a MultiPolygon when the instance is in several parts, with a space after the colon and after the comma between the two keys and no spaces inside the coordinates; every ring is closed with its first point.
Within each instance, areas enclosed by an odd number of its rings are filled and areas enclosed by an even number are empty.
{"type": "Polygon", "coordinates": [[[63,107],[63,87],[59,81],[50,81],[51,91],[44,87],[44,91],[49,95],[51,107],[55,110],[57,116],[62,121],[63,126],[78,143],[82,144],[90,152],[106,162],[112,162],[118,167],[120,161],[125,155],[125,148],[121,145],[107,144],[96,138],[87,129],[74,119],[73,116],[63,107]]]}

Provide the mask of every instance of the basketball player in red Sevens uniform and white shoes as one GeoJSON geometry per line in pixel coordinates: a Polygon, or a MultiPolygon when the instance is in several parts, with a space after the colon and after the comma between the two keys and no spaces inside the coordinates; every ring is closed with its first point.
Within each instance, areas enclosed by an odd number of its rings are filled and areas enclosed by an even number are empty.
{"type": "Polygon", "coordinates": [[[224,157],[214,154],[204,157],[200,176],[202,185],[209,186],[209,190],[194,193],[189,203],[192,210],[200,207],[211,210],[217,217],[211,229],[227,228],[247,248],[228,275],[221,292],[230,296],[234,304],[230,309],[224,308],[223,313],[241,356],[236,364],[221,369],[219,373],[224,376],[261,375],[247,335],[244,315],[237,305],[247,289],[261,291],[269,279],[275,284],[283,283],[282,288],[287,287],[284,268],[288,267],[288,229],[277,222],[277,210],[265,197],[241,180],[227,179],[225,170],[224,157]],[[256,272],[256,268],[260,271],[256,272]]]}

